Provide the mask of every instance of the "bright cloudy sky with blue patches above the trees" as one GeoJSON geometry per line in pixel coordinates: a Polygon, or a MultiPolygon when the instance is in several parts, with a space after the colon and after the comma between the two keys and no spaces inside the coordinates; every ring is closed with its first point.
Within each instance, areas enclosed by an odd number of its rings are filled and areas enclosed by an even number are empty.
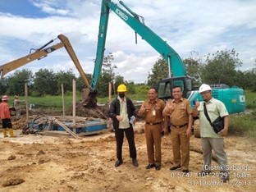
{"type": "MultiPolygon", "coordinates": [[[[112,2],[118,3],[117,0],[112,2]]],[[[123,0],[181,58],[205,58],[217,50],[235,49],[242,71],[255,67],[256,0],[123,0]],[[197,54],[198,53],[198,54],[197,54]]],[[[120,4],[119,4],[120,5],[120,4]]],[[[121,5],[120,5],[121,6],[121,5]]],[[[86,73],[93,73],[100,0],[0,0],[0,65],[40,48],[58,34],[71,41],[86,73]]],[[[56,39],[52,44],[59,43],[56,39]]],[[[114,13],[110,13],[105,55],[114,55],[116,74],[143,83],[157,53],[114,13]]],[[[64,48],[21,69],[75,69],[64,48]]]]}

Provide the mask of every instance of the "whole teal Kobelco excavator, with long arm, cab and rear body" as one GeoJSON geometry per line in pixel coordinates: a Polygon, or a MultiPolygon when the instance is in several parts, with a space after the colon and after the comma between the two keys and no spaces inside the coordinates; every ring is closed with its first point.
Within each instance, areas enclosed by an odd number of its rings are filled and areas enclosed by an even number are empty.
{"type": "MultiPolygon", "coordinates": [[[[169,76],[166,79],[159,80],[158,98],[164,100],[171,98],[171,91],[174,86],[180,86],[182,89],[182,97],[188,98],[192,101],[200,98],[199,91],[193,89],[192,79],[186,73],[185,64],[181,60],[181,57],[176,51],[167,44],[166,41],[161,39],[158,34],[155,34],[153,30],[150,30],[147,25],[144,24],[144,18],[139,16],[134,11],[131,11],[129,7],[122,1],[119,1],[122,8],[111,0],[102,0],[100,22],[98,30],[98,47],[94,67],[94,75],[91,88],[95,89],[101,67],[103,64],[103,54],[105,51],[105,41],[107,36],[107,22],[109,12],[115,13],[122,21],[135,30],[135,34],[139,34],[142,39],[147,41],[168,63],[169,76]],[[125,10],[124,10],[125,9],[125,10]]],[[[218,98],[223,101],[227,106],[230,106],[230,113],[244,112],[245,111],[245,92],[243,89],[231,88],[231,89],[215,89],[217,95],[225,95],[223,98],[218,98]],[[224,92],[228,94],[223,94],[224,92]],[[228,96],[227,96],[228,95],[228,96]],[[225,98],[228,98],[225,100],[225,98]]]]}

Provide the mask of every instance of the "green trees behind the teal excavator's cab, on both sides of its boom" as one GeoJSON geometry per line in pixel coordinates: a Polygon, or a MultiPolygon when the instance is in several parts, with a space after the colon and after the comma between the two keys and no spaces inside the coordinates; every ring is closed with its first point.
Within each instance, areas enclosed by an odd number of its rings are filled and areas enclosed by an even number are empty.
{"type": "MultiPolygon", "coordinates": [[[[208,53],[204,61],[198,55],[191,52],[191,56],[183,60],[187,75],[193,78],[194,87],[199,87],[202,83],[225,84],[256,91],[256,61],[251,70],[240,71],[236,68],[243,63],[234,49],[208,53]]],[[[149,72],[148,84],[155,85],[158,80],[167,78],[167,75],[167,62],[160,57],[153,65],[152,72],[149,72]]]]}

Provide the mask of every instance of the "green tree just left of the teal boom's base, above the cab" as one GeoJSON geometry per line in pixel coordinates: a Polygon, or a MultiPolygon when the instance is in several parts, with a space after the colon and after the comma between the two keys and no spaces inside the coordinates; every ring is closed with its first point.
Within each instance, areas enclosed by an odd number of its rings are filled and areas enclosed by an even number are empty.
{"type": "Polygon", "coordinates": [[[148,75],[148,85],[155,86],[158,80],[167,78],[168,76],[168,64],[164,58],[159,57],[152,68],[152,73],[148,75]]]}

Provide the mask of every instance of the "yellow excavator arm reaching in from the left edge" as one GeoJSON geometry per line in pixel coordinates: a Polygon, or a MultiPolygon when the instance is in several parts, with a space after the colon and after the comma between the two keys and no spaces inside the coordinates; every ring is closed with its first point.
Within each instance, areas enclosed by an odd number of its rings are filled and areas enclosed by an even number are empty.
{"type": "Polygon", "coordinates": [[[13,70],[16,70],[17,68],[19,68],[21,66],[24,66],[27,63],[33,62],[36,59],[40,60],[43,57],[46,57],[48,55],[48,53],[52,53],[59,48],[65,47],[66,52],[71,57],[71,60],[74,62],[76,69],[79,71],[82,79],[85,81],[85,85],[87,85],[87,87],[90,88],[89,80],[85,76],[85,72],[84,72],[82,66],[80,65],[78,58],[75,55],[75,51],[72,48],[70,41],[63,34],[59,34],[57,36],[57,38],[61,40],[61,43],[57,43],[51,47],[45,48],[46,46],[48,46],[49,43],[53,43],[53,40],[51,40],[48,43],[46,43],[45,45],[43,45],[43,47],[35,50],[34,53],[30,53],[29,55],[27,55],[25,57],[21,57],[12,62],[7,62],[6,64],[0,66],[0,77],[2,78],[2,76],[7,75],[7,73],[9,73],[13,70]]]}

